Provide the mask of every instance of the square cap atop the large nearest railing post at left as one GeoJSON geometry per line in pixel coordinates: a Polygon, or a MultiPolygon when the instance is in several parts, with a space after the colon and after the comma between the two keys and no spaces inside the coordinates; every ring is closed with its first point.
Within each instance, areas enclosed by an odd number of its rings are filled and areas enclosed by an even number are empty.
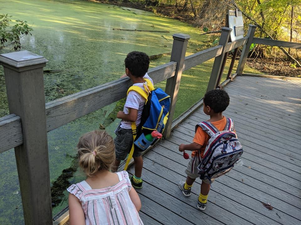
{"type": "Polygon", "coordinates": [[[9,67],[16,71],[27,70],[25,67],[44,67],[48,60],[43,56],[34,54],[27,50],[20,52],[5,53],[0,55],[0,65],[9,67]]]}

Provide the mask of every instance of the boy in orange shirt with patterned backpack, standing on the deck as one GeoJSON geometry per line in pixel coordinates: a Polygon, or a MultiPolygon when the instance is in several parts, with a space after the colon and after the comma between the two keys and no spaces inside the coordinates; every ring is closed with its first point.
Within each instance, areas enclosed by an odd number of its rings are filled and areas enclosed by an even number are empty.
{"type": "Polygon", "coordinates": [[[196,126],[193,143],[179,146],[180,152],[193,151],[185,170],[186,182],[181,181],[179,188],[182,194],[188,197],[195,179],[202,179],[197,205],[199,210],[206,208],[214,179],[229,172],[243,152],[233,121],[223,116],[223,111],[229,103],[229,95],[224,90],[207,92],[203,98],[203,111],[210,119],[196,126]]]}

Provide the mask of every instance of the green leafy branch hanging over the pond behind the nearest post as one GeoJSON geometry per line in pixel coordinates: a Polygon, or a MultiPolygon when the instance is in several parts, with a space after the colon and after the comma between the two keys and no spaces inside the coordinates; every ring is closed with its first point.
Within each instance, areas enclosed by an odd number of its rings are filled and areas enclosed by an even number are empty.
{"type": "Polygon", "coordinates": [[[11,16],[0,14],[0,52],[4,47],[13,45],[13,50],[21,48],[20,38],[28,35],[33,29],[29,27],[27,21],[16,20],[16,24],[10,26],[11,16]]]}

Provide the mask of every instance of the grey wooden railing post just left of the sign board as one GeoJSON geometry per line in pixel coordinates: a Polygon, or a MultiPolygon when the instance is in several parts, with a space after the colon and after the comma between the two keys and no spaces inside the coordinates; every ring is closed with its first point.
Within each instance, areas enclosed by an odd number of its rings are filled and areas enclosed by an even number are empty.
{"type": "Polygon", "coordinates": [[[223,45],[224,47],[222,50],[222,54],[214,59],[213,68],[211,71],[211,75],[210,75],[210,79],[209,79],[209,83],[208,83],[208,87],[207,87],[207,92],[210,90],[213,90],[217,87],[218,75],[221,71],[222,63],[223,63],[224,56],[225,56],[225,47],[229,41],[231,31],[232,31],[231,28],[222,27],[222,33],[220,35],[219,45],[223,45]]]}

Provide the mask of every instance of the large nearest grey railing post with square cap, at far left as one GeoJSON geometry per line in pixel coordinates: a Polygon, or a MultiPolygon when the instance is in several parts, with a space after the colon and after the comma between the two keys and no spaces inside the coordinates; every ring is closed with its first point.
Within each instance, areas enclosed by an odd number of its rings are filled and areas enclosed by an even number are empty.
{"type": "Polygon", "coordinates": [[[0,55],[9,112],[22,121],[23,144],[15,148],[24,222],[52,224],[43,67],[29,51],[0,55]]]}

